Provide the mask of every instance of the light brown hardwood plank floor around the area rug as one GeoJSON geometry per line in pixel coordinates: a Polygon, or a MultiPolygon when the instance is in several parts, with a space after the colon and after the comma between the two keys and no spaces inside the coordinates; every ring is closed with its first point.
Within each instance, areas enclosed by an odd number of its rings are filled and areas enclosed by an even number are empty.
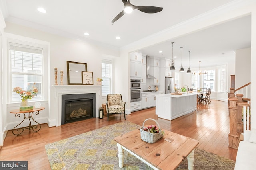
{"type": "MultiPolygon", "coordinates": [[[[237,150],[228,147],[229,113],[227,102],[212,100],[211,104],[200,104],[197,111],[172,121],[158,119],[155,107],[126,115],[126,121],[141,126],[147,118],[156,119],[162,129],[197,139],[198,147],[208,152],[232,160],[236,159],[237,150]]],[[[42,124],[38,133],[25,129],[20,136],[13,135],[12,131],[8,131],[4,146],[0,151],[0,160],[26,160],[29,170],[50,170],[44,145],[124,121],[124,115],[121,117],[119,114],[112,115],[109,119],[107,121],[107,117],[104,119],[92,118],[51,128],[47,124],[42,124]]],[[[146,124],[152,123],[154,122],[146,122],[146,124]]]]}

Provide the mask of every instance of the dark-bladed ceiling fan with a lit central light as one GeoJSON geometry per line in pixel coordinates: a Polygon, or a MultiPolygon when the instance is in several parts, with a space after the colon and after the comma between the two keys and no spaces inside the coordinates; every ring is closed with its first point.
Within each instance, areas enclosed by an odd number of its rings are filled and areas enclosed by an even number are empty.
{"type": "Polygon", "coordinates": [[[163,10],[162,7],[156,7],[156,6],[135,6],[130,3],[130,0],[122,0],[124,3],[124,10],[120,12],[111,22],[114,23],[116,20],[121,18],[125,13],[131,13],[133,10],[137,9],[141,12],[145,13],[157,13],[163,10]]]}

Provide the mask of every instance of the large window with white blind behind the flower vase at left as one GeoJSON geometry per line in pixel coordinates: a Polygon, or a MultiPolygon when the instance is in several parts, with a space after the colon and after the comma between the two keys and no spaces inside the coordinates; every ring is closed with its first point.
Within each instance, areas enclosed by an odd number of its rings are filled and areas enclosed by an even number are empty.
{"type": "MultiPolygon", "coordinates": [[[[32,100],[42,99],[43,49],[9,43],[9,56],[12,89],[19,86],[23,90],[29,90],[36,83],[34,86],[38,88],[38,95],[32,100]]],[[[11,101],[20,100],[20,95],[12,92],[11,101]]]]}

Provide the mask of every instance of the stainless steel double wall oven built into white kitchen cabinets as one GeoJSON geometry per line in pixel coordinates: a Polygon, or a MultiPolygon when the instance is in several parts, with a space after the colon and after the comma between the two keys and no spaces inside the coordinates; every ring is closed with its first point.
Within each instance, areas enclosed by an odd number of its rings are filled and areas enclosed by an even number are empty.
{"type": "Polygon", "coordinates": [[[130,102],[141,100],[140,79],[130,79],[130,102]]]}

